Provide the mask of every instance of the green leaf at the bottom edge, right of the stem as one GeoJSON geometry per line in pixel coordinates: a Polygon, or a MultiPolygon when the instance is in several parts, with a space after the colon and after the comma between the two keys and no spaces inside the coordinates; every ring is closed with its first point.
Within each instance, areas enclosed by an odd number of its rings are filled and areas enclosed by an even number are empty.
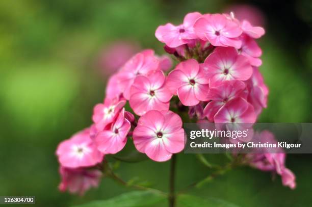
{"type": "Polygon", "coordinates": [[[177,206],[193,207],[193,206],[214,206],[214,207],[238,207],[238,205],[229,203],[225,200],[217,198],[201,198],[193,195],[179,195],[177,198],[177,206]]]}

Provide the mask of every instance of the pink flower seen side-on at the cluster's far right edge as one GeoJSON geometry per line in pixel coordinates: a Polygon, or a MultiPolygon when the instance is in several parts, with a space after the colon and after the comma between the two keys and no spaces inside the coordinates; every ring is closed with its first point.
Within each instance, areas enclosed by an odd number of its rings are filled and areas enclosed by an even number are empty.
{"type": "Polygon", "coordinates": [[[269,89],[264,83],[262,74],[256,67],[253,67],[252,76],[246,83],[249,92],[247,100],[258,115],[263,108],[267,108],[269,89]]]}

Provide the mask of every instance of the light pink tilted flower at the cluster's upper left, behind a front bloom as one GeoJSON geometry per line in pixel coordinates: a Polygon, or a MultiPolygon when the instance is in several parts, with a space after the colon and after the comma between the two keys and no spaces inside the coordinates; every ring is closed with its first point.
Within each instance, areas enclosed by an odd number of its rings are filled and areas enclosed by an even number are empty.
{"type": "Polygon", "coordinates": [[[123,92],[123,97],[130,98],[130,88],[137,75],[145,75],[150,71],[159,69],[159,60],[154,56],[153,50],[144,50],[125,63],[117,74],[117,85],[123,92]]]}

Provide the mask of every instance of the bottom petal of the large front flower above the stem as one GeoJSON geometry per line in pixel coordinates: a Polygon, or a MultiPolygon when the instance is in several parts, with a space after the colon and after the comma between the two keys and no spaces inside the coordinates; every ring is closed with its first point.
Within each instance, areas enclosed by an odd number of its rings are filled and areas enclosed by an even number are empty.
{"type": "Polygon", "coordinates": [[[172,153],[169,152],[162,139],[155,138],[145,147],[147,157],[157,162],[165,162],[171,159],[172,153]]]}

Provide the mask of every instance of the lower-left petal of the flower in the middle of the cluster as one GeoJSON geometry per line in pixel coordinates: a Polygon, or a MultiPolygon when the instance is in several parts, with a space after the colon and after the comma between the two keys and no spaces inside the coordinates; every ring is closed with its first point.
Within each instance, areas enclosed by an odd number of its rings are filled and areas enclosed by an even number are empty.
{"type": "Polygon", "coordinates": [[[177,90],[177,95],[184,106],[195,106],[199,103],[192,85],[181,86],[177,90]]]}

